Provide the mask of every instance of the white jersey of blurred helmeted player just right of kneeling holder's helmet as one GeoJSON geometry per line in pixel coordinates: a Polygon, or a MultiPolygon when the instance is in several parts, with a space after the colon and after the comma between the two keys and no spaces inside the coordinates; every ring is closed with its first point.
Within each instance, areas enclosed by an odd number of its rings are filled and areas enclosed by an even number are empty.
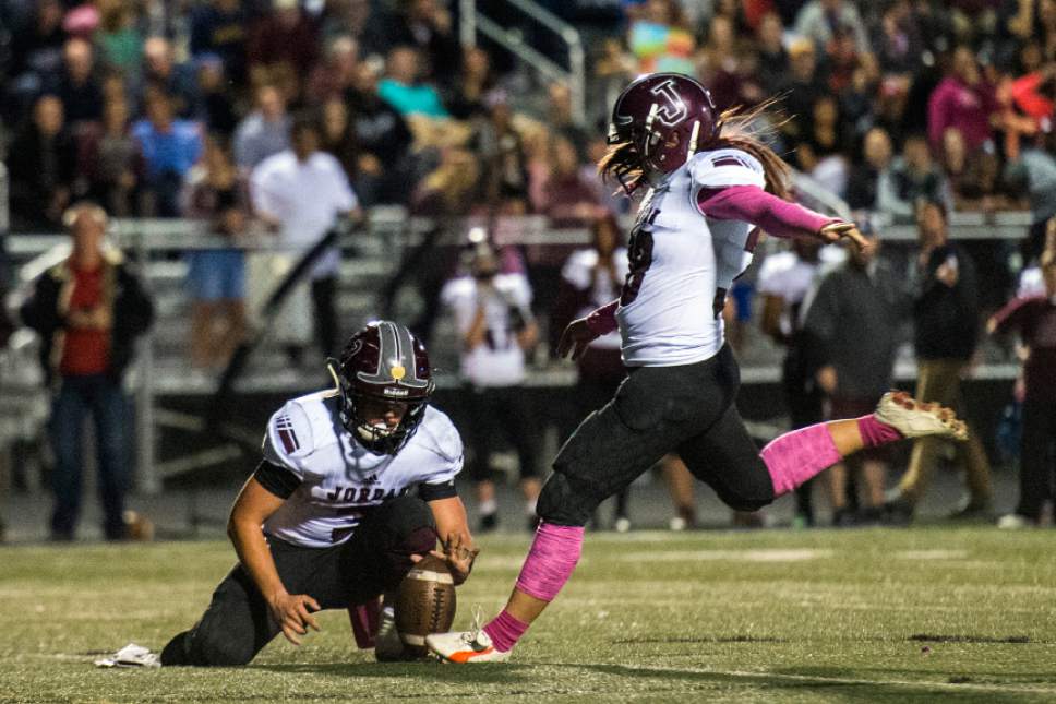
{"type": "Polygon", "coordinates": [[[516,310],[531,320],[531,286],[524,274],[499,274],[489,289],[481,289],[471,276],[447,282],[440,294],[455,315],[459,336],[469,332],[477,307],[484,305],[484,344],[461,350],[461,375],[477,386],[515,386],[525,380],[525,350],[514,330],[516,310]],[[482,298],[483,297],[483,298],[482,298]]]}

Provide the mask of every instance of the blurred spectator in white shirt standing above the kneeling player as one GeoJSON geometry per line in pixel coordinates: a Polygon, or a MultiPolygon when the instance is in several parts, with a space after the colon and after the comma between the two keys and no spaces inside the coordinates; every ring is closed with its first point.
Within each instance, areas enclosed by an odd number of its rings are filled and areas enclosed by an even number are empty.
{"type": "MultiPolygon", "coordinates": [[[[313,118],[293,121],[292,148],[269,156],[253,169],[250,194],[257,216],[278,230],[279,246],[303,253],[317,243],[338,217],[360,217],[359,200],[341,165],[319,151],[320,128],[313,118]]],[[[328,249],[312,266],[315,332],[323,353],[337,351],[334,295],[340,252],[328,249]]],[[[293,357],[299,356],[295,351],[293,357]]]]}

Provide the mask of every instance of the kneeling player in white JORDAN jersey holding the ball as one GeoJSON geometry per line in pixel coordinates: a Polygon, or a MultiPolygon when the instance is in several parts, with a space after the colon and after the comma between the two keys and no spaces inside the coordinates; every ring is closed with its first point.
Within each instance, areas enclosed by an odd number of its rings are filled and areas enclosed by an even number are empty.
{"type": "MultiPolygon", "coordinates": [[[[434,554],[455,584],[469,575],[478,550],[455,491],[463,444],[429,405],[424,346],[398,323],[373,322],[331,372],[337,389],[290,401],[268,421],[264,458],[228,522],[239,563],[160,665],[245,665],[279,632],[300,644],[319,630],[313,612],[340,608],[361,646],[380,622],[379,659],[398,659],[403,645],[387,599],[379,619],[379,596],[433,551],[437,534],[445,552],[434,554]]],[[[157,658],[131,645],[115,660],[157,658]]]]}

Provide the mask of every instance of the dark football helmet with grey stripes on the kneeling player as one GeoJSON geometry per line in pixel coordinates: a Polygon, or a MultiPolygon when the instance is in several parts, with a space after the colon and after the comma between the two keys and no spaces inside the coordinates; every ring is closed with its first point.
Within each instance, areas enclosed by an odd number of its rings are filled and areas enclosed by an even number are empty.
{"type": "Polygon", "coordinates": [[[399,452],[418,430],[435,387],[421,341],[399,323],[374,321],[349,338],[329,368],[340,393],[345,429],[368,450],[399,452]],[[372,425],[363,415],[364,401],[404,406],[399,425],[372,425]]]}

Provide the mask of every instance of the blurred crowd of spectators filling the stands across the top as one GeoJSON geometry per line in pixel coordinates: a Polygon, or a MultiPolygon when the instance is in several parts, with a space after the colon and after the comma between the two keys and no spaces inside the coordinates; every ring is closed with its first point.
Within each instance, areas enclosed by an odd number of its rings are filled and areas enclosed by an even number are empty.
{"type": "MultiPolygon", "coordinates": [[[[588,95],[682,71],[722,109],[777,98],[781,152],[853,208],[911,223],[922,199],[1030,207],[1040,251],[1056,207],[1054,0],[590,7],[559,10],[603,36],[591,43],[588,95]]],[[[588,100],[577,123],[567,86],[554,84],[539,86],[537,98],[549,88],[540,108],[519,95],[525,72],[508,57],[460,46],[457,10],[443,0],[199,0],[159,15],[151,2],[9,2],[0,90],[15,227],[55,226],[84,196],[119,215],[185,215],[177,195],[206,136],[230,141],[248,178],[288,146],[303,109],[323,116],[322,148],[365,206],[430,201],[430,175],[465,151],[477,178],[445,210],[494,212],[513,200],[581,224],[621,207],[573,167],[573,155],[576,166],[596,156],[607,100],[588,100]]]]}

